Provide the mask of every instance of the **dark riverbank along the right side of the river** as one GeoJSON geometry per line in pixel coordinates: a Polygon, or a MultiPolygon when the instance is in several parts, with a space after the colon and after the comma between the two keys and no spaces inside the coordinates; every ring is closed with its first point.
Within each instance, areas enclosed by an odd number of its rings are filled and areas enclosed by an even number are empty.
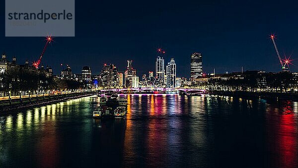
{"type": "Polygon", "coordinates": [[[212,91],[209,94],[243,98],[282,99],[298,101],[298,94],[282,92],[212,91]]]}

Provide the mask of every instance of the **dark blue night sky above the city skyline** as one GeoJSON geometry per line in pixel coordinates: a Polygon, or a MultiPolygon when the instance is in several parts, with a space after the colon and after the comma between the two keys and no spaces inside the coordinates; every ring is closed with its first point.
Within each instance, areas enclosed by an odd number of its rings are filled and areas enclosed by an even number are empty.
{"type": "MultiPolygon", "coordinates": [[[[4,0],[0,2],[0,51],[20,64],[37,60],[44,46],[42,37],[4,37],[4,0]]],[[[277,35],[281,55],[294,59],[298,71],[297,0],[193,0],[193,1],[101,1],[76,0],[75,37],[56,37],[43,64],[54,74],[60,64],[74,73],[90,66],[99,74],[104,63],[124,71],[133,60],[137,75],[155,71],[156,49],[166,51],[165,63],[174,58],[177,77],[189,77],[190,55],[203,54],[203,69],[212,73],[241,70],[280,71],[269,35],[277,35]]],[[[154,72],[155,73],[155,72],[154,72]]]]}

